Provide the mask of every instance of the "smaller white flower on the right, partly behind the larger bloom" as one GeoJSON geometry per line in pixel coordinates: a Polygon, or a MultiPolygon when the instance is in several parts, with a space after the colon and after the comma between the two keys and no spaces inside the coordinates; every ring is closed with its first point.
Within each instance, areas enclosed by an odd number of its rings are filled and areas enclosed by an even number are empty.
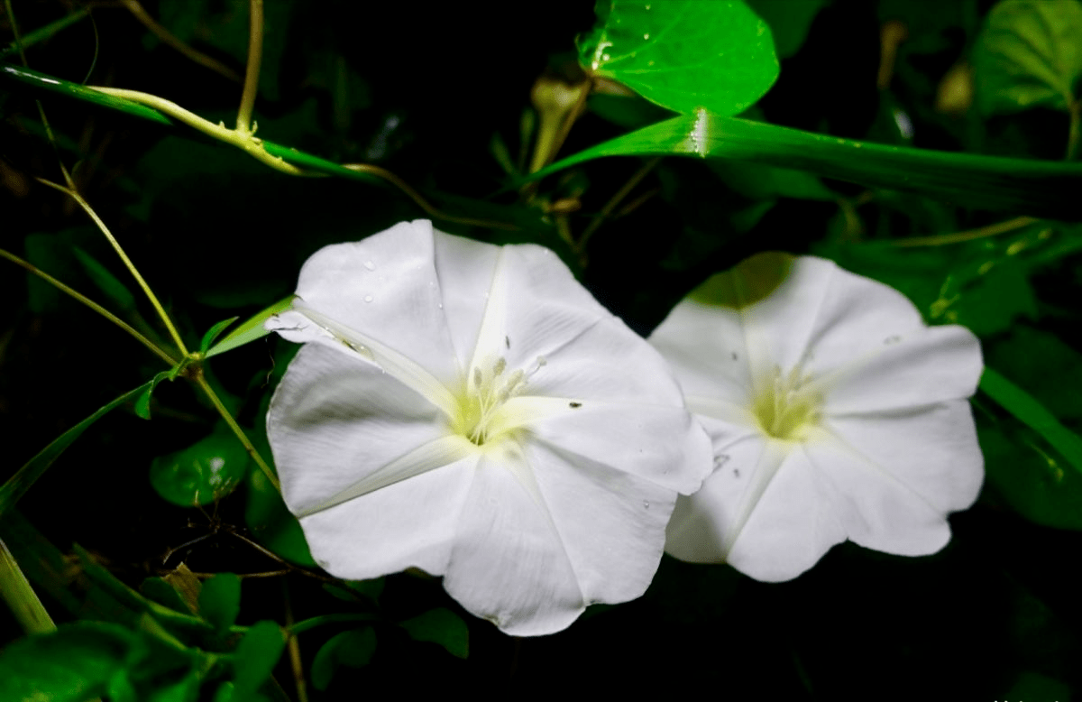
{"type": "Polygon", "coordinates": [[[950,540],[984,460],[967,329],[928,327],[901,294],[779,253],[712,277],[650,337],[714,444],[667,552],[795,577],[846,538],[919,556],[950,540]]]}

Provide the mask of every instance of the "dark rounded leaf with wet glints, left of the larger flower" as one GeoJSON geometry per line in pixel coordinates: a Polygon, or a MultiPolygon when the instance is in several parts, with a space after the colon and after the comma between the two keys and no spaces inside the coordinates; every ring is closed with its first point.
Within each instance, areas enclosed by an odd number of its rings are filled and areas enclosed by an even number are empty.
{"type": "Polygon", "coordinates": [[[228,495],[240,484],[248,460],[248,452],[236,437],[219,428],[187,448],[155,458],[150,464],[150,484],[174,505],[206,505],[228,495]]]}

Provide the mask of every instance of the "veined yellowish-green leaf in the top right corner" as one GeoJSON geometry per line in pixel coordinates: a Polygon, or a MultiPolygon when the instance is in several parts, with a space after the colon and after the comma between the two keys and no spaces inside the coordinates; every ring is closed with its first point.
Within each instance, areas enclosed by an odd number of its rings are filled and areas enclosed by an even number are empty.
{"type": "Polygon", "coordinates": [[[1069,109],[1082,76],[1082,3],[1000,2],[977,37],[973,64],[977,105],[986,115],[1069,109]]]}

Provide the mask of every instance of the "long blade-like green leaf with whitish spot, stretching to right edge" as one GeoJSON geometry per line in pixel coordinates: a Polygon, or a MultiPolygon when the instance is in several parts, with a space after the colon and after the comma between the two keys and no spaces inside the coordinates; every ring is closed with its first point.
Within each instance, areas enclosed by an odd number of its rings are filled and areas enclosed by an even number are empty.
{"type": "Polygon", "coordinates": [[[704,110],[603,142],[531,173],[522,182],[603,156],[664,154],[755,161],[1034,217],[1073,219],[1074,197],[1082,191],[1080,164],[885,146],[718,117],[704,110]]]}

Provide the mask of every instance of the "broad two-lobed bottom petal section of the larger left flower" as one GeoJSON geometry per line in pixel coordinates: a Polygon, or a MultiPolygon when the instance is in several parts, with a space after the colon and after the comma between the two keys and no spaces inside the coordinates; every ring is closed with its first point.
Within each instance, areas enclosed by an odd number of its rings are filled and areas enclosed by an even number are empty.
{"type": "Polygon", "coordinates": [[[541,446],[486,457],[444,584],[507,634],[558,632],[590,603],[646,590],[673,497],[603,466],[568,464],[541,446]]]}

